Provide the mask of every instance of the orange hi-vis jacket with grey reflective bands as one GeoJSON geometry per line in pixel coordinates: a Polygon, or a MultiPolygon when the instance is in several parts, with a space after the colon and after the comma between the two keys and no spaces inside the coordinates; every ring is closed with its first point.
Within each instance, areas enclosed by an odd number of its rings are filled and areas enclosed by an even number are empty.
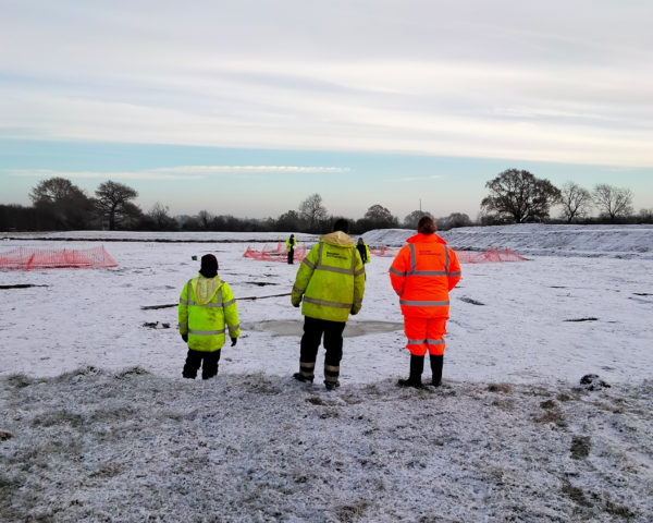
{"type": "Polygon", "coordinates": [[[448,318],[448,293],[461,277],[456,253],[438,234],[418,233],[407,242],[390,267],[402,314],[448,318]]]}

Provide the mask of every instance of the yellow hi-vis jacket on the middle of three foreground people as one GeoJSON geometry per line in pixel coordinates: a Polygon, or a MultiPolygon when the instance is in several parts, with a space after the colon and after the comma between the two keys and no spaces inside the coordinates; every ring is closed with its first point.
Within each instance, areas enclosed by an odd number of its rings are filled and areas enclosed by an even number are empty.
{"type": "Polygon", "coordinates": [[[352,239],[336,231],[310,250],[295,278],[291,300],[304,303],[301,314],[317,319],[346,321],[362,306],[365,269],[352,239]]]}

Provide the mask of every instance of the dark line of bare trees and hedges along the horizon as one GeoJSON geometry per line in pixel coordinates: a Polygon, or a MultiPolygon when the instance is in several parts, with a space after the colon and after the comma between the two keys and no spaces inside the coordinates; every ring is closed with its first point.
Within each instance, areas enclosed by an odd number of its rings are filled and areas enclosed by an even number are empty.
{"type": "MultiPolygon", "coordinates": [[[[402,221],[386,207],[374,204],[360,219],[349,219],[352,232],[361,234],[372,229],[415,229],[422,216],[430,216],[440,230],[456,227],[526,222],[567,223],[652,223],[653,209],[632,209],[632,192],[624,187],[597,184],[589,191],[574,182],[560,188],[549,180],[538,179],[529,171],[508,169],[490,180],[489,191],[480,204],[478,220],[463,212],[436,218],[431,212],[416,209],[402,221]],[[560,209],[551,218],[552,207],[560,209]],[[592,211],[597,211],[597,217],[592,211]]],[[[320,233],[330,229],[337,218],[324,207],[319,194],[311,194],[278,218],[252,219],[231,215],[213,215],[200,210],[197,215],[170,216],[169,208],[157,202],[143,211],[133,200],[136,190],[111,180],[101,183],[95,196],[64,178],[39,182],[29,193],[32,207],[0,205],[0,230],[3,231],[61,231],[61,230],[135,230],[135,231],[279,231],[320,233]]]]}

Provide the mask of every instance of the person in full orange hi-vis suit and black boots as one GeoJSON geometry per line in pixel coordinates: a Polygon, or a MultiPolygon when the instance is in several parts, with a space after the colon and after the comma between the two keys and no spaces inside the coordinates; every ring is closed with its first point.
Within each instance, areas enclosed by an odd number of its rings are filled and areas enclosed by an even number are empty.
{"type": "Polygon", "coordinates": [[[390,267],[390,281],[399,296],[404,332],[410,351],[410,376],[399,379],[402,387],[422,387],[424,355],[430,355],[431,385],[442,380],[444,339],[449,313],[449,291],[460,281],[456,253],[435,234],[429,216],[420,218],[417,234],[407,240],[390,267]]]}

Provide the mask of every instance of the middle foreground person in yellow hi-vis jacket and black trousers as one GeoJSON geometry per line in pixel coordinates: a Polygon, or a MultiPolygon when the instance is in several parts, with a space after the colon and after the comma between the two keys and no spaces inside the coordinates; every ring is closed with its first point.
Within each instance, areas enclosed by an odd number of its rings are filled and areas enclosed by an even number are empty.
{"type": "Polygon", "coordinates": [[[338,219],[333,232],[310,250],[295,278],[291,301],[301,305],[304,336],[299,348],[299,372],[293,377],[312,382],[316,358],[324,336],[324,386],[340,387],[343,330],[349,314],[358,314],[365,293],[365,269],[356,245],[347,234],[349,222],[338,219]]]}

